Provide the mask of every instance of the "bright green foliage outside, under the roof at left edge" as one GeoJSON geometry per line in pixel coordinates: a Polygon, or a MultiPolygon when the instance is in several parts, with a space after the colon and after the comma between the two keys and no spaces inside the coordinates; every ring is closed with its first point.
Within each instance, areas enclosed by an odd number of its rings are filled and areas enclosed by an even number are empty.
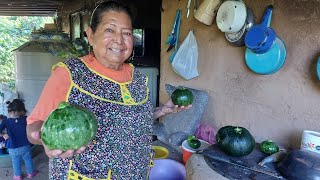
{"type": "Polygon", "coordinates": [[[52,23],[52,17],[0,16],[0,83],[14,88],[14,57],[12,50],[29,40],[34,29],[52,23]]]}

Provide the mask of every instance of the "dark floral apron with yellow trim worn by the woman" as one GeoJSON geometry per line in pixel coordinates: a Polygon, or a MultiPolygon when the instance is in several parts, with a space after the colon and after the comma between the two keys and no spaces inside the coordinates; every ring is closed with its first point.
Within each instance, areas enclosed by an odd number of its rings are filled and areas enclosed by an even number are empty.
{"type": "Polygon", "coordinates": [[[147,77],[133,69],[132,81],[118,83],[76,58],[56,66],[72,79],[67,101],[90,109],[99,126],[84,153],[50,159],[49,178],[147,179],[153,123],[147,77]]]}

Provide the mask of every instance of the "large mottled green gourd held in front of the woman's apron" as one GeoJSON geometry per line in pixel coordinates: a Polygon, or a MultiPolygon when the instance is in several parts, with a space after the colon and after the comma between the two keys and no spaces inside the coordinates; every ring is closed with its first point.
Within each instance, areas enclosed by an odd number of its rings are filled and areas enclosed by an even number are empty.
{"type": "Polygon", "coordinates": [[[49,149],[77,150],[95,136],[98,122],[88,109],[61,102],[41,128],[41,139],[49,149]]]}

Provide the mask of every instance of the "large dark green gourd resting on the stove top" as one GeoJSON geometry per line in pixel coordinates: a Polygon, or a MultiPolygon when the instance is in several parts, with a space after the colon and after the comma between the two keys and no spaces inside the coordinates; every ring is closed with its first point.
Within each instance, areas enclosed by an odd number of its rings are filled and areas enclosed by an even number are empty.
{"type": "Polygon", "coordinates": [[[255,140],[243,127],[225,126],[216,135],[218,147],[227,155],[241,157],[250,154],[255,147],[255,140]]]}

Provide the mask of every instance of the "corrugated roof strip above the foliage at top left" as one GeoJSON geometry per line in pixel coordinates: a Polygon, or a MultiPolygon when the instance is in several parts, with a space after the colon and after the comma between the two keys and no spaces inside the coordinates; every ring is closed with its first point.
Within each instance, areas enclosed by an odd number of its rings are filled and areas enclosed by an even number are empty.
{"type": "Polygon", "coordinates": [[[0,16],[52,16],[65,1],[1,0],[0,16]]]}

